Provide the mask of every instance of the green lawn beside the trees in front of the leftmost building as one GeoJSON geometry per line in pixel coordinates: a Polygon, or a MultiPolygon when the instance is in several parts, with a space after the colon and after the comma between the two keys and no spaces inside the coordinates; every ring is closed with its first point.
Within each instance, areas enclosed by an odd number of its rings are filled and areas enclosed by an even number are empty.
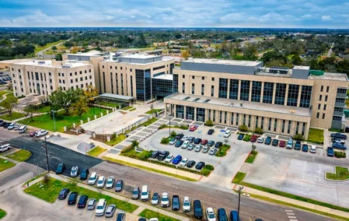
{"type": "MultiPolygon", "coordinates": [[[[101,111],[105,112],[105,109],[90,108],[89,112],[82,114],[81,119],[86,119],[87,117],[90,117],[90,119],[92,119],[92,117],[94,116],[94,111],[95,111],[96,115],[98,115],[98,114],[101,114],[101,111]]],[[[56,130],[59,132],[63,132],[64,126],[66,126],[66,125],[80,122],[79,116],[65,116],[65,115],[63,115],[64,112],[60,112],[60,113],[62,114],[61,118],[60,119],[56,118],[56,130]]],[[[52,119],[52,116],[50,114],[43,114],[40,116],[34,116],[33,121],[31,121],[31,119],[24,119],[22,121],[19,121],[18,123],[31,125],[31,126],[34,126],[36,128],[42,128],[45,130],[54,131],[53,119],[52,119]]]]}

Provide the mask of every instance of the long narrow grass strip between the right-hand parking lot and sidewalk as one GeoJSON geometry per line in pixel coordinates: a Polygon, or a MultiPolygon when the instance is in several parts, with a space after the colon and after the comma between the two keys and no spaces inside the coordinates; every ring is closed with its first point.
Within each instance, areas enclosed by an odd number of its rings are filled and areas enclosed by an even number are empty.
{"type": "Polygon", "coordinates": [[[269,192],[271,194],[279,195],[281,197],[288,197],[290,199],[304,201],[304,202],[309,203],[309,204],[315,204],[315,205],[318,205],[318,206],[325,206],[327,208],[333,208],[333,209],[335,209],[337,211],[343,211],[343,212],[349,213],[349,208],[344,208],[344,207],[341,207],[341,206],[328,204],[328,203],[325,203],[325,202],[322,202],[322,201],[318,201],[318,200],[315,200],[315,199],[309,199],[309,198],[306,198],[306,197],[300,197],[300,196],[297,196],[297,195],[292,195],[291,193],[288,193],[288,192],[282,192],[282,191],[279,191],[279,190],[273,190],[273,189],[265,188],[265,187],[262,187],[260,185],[255,185],[255,184],[252,184],[252,183],[245,183],[245,182],[243,182],[245,176],[246,176],[245,173],[237,172],[237,175],[232,180],[232,183],[237,183],[239,185],[244,185],[244,186],[246,186],[248,188],[253,188],[255,190],[260,190],[260,191],[263,191],[263,192],[269,192]]]}

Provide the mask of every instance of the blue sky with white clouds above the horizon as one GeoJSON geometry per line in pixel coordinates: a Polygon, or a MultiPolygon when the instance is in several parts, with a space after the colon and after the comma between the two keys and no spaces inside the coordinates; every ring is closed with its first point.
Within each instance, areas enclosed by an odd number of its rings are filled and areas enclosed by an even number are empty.
{"type": "Polygon", "coordinates": [[[0,26],[349,28],[345,0],[1,0],[0,26]]]}

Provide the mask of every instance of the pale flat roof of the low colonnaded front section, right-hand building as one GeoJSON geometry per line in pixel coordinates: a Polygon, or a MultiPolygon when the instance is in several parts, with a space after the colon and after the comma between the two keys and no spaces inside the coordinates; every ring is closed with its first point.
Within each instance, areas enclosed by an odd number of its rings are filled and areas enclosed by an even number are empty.
{"type": "Polygon", "coordinates": [[[309,108],[304,108],[304,107],[290,107],[290,106],[285,106],[285,105],[272,105],[272,104],[266,104],[266,103],[262,103],[262,102],[251,102],[251,101],[245,101],[245,100],[231,100],[231,99],[227,99],[227,98],[211,98],[211,97],[206,97],[206,96],[188,95],[188,94],[184,94],[184,93],[176,93],[176,94],[170,95],[166,98],[173,99],[173,100],[189,101],[189,102],[201,102],[201,103],[207,103],[207,104],[211,104],[211,105],[221,105],[221,106],[226,106],[226,107],[238,107],[238,108],[242,108],[242,109],[254,109],[254,110],[260,110],[260,111],[264,111],[264,112],[275,112],[275,113],[280,113],[280,114],[291,114],[291,115],[295,115],[295,116],[309,116],[309,117],[311,117],[311,110],[309,108]],[[187,99],[185,99],[185,98],[187,98],[187,99]],[[209,100],[209,101],[205,102],[205,100],[209,100]],[[242,106],[240,104],[242,104],[242,106]]]}

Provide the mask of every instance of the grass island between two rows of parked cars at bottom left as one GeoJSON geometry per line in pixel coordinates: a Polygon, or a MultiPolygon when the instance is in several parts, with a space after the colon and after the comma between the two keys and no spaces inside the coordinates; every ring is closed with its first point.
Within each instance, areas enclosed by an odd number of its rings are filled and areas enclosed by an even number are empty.
{"type": "Polygon", "coordinates": [[[50,178],[48,183],[40,181],[34,185],[31,185],[29,188],[25,189],[24,192],[53,203],[54,201],[56,201],[61,188],[69,188],[70,192],[78,192],[79,195],[88,195],[89,198],[95,198],[97,199],[97,201],[99,199],[106,199],[107,204],[115,204],[117,205],[117,208],[120,208],[128,213],[132,213],[138,208],[138,206],[130,204],[126,201],[115,199],[113,197],[103,195],[99,192],[81,188],[80,186],[72,185],[71,183],[65,183],[54,178],[50,178]],[[42,188],[40,188],[40,183],[43,184],[42,188]]]}

